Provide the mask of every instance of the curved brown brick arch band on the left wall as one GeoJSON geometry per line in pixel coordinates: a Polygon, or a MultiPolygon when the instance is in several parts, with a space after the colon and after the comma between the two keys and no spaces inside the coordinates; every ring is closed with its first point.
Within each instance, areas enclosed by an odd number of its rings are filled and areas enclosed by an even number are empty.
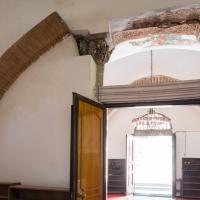
{"type": "Polygon", "coordinates": [[[23,71],[69,35],[67,25],[54,12],[15,42],[0,57],[0,99],[23,71]]]}

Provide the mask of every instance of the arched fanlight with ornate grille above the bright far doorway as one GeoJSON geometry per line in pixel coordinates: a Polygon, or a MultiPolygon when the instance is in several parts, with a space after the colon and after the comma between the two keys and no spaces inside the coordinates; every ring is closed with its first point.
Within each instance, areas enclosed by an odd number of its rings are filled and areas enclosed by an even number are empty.
{"type": "Polygon", "coordinates": [[[171,119],[150,108],[143,116],[132,120],[134,135],[171,135],[171,119]]]}

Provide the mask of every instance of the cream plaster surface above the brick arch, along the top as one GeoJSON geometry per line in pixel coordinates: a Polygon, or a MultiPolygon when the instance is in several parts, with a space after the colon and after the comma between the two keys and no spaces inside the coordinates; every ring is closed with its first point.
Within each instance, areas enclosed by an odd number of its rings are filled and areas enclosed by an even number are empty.
{"type": "Polygon", "coordinates": [[[141,12],[199,0],[0,0],[0,55],[53,11],[71,30],[108,31],[108,22],[141,12]]]}

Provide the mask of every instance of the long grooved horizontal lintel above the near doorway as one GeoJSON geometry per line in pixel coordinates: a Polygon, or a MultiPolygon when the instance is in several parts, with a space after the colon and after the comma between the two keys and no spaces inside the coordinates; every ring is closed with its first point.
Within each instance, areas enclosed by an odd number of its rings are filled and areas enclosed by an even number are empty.
{"type": "Polygon", "coordinates": [[[149,86],[104,86],[99,88],[100,102],[109,104],[155,104],[163,102],[200,102],[200,80],[149,86]]]}

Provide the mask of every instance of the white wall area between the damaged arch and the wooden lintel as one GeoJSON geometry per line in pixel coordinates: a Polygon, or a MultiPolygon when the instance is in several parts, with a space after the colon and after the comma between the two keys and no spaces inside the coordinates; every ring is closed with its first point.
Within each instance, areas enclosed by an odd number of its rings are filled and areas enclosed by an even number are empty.
{"type": "MultiPolygon", "coordinates": [[[[153,49],[152,63],[153,75],[179,80],[200,79],[200,51],[197,49],[177,46],[156,48],[153,49]]],[[[108,62],[104,70],[104,85],[127,85],[150,75],[151,52],[144,49],[108,62]]]]}

